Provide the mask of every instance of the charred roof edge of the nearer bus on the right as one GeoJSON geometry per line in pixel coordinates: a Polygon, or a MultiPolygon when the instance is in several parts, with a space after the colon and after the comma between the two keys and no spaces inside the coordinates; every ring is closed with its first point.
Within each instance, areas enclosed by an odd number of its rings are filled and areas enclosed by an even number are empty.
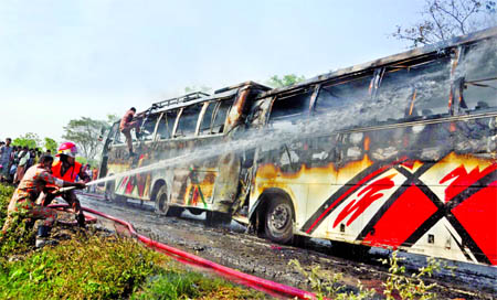
{"type": "Polygon", "coordinates": [[[370,61],[368,63],[358,64],[355,66],[340,68],[340,69],[334,71],[330,73],[321,74],[321,75],[315,76],[313,78],[306,79],[304,82],[300,82],[300,83],[292,85],[292,86],[285,86],[285,87],[271,89],[268,92],[261,94],[258,96],[258,98],[272,96],[274,94],[279,94],[282,92],[290,92],[293,89],[300,89],[308,85],[318,84],[318,83],[326,82],[326,81],[329,81],[329,79],[332,79],[336,77],[340,77],[343,75],[362,73],[364,71],[374,69],[374,68],[378,68],[381,66],[390,65],[395,62],[401,62],[404,60],[411,60],[411,58],[420,57],[423,55],[436,53],[443,49],[454,47],[457,45],[467,44],[467,43],[472,43],[472,42],[475,42],[478,40],[484,40],[484,39],[489,39],[489,38],[495,38],[495,36],[497,36],[497,26],[488,28],[488,29],[485,29],[482,31],[476,31],[474,33],[469,33],[466,35],[456,36],[454,39],[442,41],[442,42],[438,42],[435,44],[425,45],[423,47],[412,49],[410,51],[405,51],[405,52],[398,53],[394,55],[385,56],[383,58],[370,61]]]}

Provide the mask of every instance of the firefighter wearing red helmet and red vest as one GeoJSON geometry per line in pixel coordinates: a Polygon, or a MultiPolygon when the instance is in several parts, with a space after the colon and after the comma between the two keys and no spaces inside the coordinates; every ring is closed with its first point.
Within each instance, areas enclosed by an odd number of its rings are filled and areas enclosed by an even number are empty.
{"type": "MultiPolygon", "coordinates": [[[[76,182],[76,176],[80,176],[83,184],[91,181],[91,178],[86,174],[83,164],[76,161],[77,148],[73,142],[64,142],[59,147],[57,154],[59,161],[52,165],[52,174],[61,180],[68,182],[76,182]]],[[[82,227],[85,226],[85,216],[81,210],[80,200],[73,190],[70,191],[54,191],[51,193],[44,193],[41,199],[43,206],[49,205],[56,196],[62,196],[65,202],[74,210],[76,214],[77,224],[82,227]]]]}

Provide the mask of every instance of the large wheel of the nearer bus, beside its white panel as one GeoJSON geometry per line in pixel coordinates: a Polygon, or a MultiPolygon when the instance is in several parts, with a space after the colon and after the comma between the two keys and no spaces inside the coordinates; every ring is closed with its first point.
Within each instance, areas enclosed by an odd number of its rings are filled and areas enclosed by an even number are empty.
{"type": "Polygon", "coordinates": [[[294,233],[292,204],[288,200],[278,196],[268,205],[265,215],[265,233],[266,236],[276,243],[288,243],[294,233]]]}

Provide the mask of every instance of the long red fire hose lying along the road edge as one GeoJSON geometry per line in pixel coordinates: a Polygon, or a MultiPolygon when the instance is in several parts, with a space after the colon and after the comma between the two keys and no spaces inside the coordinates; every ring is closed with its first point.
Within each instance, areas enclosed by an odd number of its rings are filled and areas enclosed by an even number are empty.
{"type": "MultiPolygon", "coordinates": [[[[53,204],[50,205],[50,207],[53,208],[60,208],[65,210],[68,208],[67,204],[53,204]]],[[[141,242],[147,247],[155,249],[157,251],[160,251],[162,254],[166,254],[176,260],[191,266],[201,267],[203,269],[213,270],[216,274],[223,276],[228,280],[234,281],[236,283],[244,285],[248,288],[253,288],[263,292],[266,292],[274,297],[279,298],[298,298],[298,299],[316,299],[316,296],[311,292],[300,290],[294,287],[285,286],[282,283],[277,283],[267,279],[263,279],[253,275],[244,274],[241,271],[237,271],[235,269],[224,267],[222,265],[215,264],[211,260],[204,259],[202,257],[189,254],[187,251],[177,249],[175,247],[161,244],[157,240],[154,240],[149,237],[146,237],[144,235],[138,234],[133,225],[126,221],[119,219],[117,217],[101,213],[98,211],[82,207],[83,211],[88,212],[93,215],[97,215],[101,217],[104,217],[106,219],[113,221],[114,223],[117,223],[119,225],[123,225],[124,228],[129,233],[129,235],[139,242],[141,242]]],[[[85,215],[86,223],[95,223],[96,217],[85,215]]],[[[76,223],[74,222],[74,225],[76,223]]]]}

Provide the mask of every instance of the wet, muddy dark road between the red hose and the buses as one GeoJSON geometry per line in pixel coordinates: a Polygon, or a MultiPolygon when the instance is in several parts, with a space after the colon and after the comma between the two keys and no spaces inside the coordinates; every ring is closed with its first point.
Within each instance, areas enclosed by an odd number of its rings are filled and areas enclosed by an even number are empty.
{"type": "MultiPolygon", "coordinates": [[[[130,222],[139,234],[166,245],[195,254],[214,262],[276,282],[311,290],[309,282],[288,266],[297,259],[309,270],[319,266],[324,274],[343,274],[340,283],[355,289],[357,281],[368,288],[381,290],[388,268],[378,259],[388,251],[372,249],[366,257],[350,257],[349,251],[337,251],[327,240],[310,239],[299,247],[273,244],[263,237],[246,234],[245,227],[232,222],[230,225],[210,227],[204,214],[194,216],[183,212],[180,217],[156,215],[151,207],[128,202],[125,206],[102,199],[81,196],[82,205],[130,222]]],[[[101,223],[101,225],[104,223],[101,223]]],[[[109,223],[105,223],[108,226],[109,223]]],[[[408,269],[414,270],[424,257],[404,255],[408,269]]],[[[436,282],[440,299],[497,299],[497,268],[457,264],[455,274],[444,271],[426,282],[436,282]]]]}

